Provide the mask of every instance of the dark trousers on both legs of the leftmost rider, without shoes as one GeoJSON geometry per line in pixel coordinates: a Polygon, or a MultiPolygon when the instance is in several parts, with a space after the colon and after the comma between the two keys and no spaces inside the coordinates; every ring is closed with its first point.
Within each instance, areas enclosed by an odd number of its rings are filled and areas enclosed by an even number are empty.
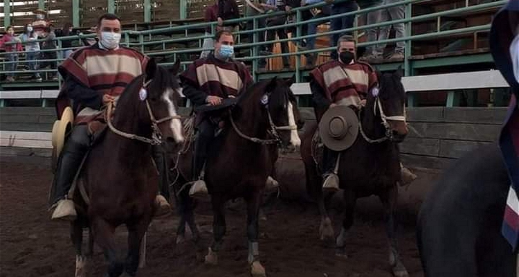
{"type": "MultiPolygon", "coordinates": [[[[57,161],[57,171],[54,175],[53,189],[51,190],[51,205],[60,199],[64,199],[69,193],[81,161],[91,147],[92,139],[93,136],[90,134],[87,125],[76,125],[73,127],[57,161]]],[[[159,172],[158,191],[168,199],[169,179],[167,176],[166,157],[166,152],[162,145],[154,145],[153,159],[159,172]]]]}

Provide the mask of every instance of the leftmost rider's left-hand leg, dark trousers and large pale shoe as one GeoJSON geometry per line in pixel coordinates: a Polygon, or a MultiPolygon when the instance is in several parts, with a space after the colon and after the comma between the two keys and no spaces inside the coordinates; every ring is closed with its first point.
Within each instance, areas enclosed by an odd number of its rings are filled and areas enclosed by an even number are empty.
{"type": "Polygon", "coordinates": [[[55,189],[51,196],[51,205],[56,206],[52,215],[53,220],[75,220],[74,203],[72,199],[67,199],[67,195],[90,144],[91,135],[88,127],[86,125],[75,126],[57,162],[57,171],[53,180],[55,189]]]}

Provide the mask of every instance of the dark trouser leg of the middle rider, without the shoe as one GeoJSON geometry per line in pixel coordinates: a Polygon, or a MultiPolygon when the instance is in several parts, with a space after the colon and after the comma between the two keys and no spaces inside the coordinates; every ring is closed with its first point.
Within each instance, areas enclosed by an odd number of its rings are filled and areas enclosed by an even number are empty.
{"type": "Polygon", "coordinates": [[[194,139],[193,180],[200,177],[216,128],[217,125],[212,123],[209,117],[204,118],[197,126],[197,136],[194,139]]]}

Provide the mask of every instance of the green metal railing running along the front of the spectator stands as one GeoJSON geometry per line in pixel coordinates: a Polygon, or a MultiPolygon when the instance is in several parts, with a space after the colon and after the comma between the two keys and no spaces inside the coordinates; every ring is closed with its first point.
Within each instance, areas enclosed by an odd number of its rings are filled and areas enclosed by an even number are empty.
{"type": "MultiPolygon", "coordinates": [[[[347,0],[337,0],[334,3],[340,3],[347,0]]],[[[373,46],[375,44],[388,44],[393,42],[404,42],[405,43],[405,55],[403,59],[403,65],[405,69],[406,75],[412,75],[412,69],[410,66],[410,56],[412,55],[412,47],[411,44],[415,40],[419,39],[433,39],[435,37],[441,37],[441,36],[449,36],[449,35],[457,35],[457,34],[464,34],[464,33],[475,33],[475,32],[486,32],[490,29],[490,24],[483,24],[480,26],[471,26],[471,27],[464,27],[464,28],[457,28],[453,30],[441,30],[440,25],[437,24],[436,30],[432,31],[431,33],[424,33],[424,34],[417,34],[412,35],[412,24],[421,22],[421,21],[437,21],[440,22],[441,17],[447,17],[447,16],[455,16],[459,14],[463,14],[466,12],[475,12],[477,10],[485,10],[489,8],[499,8],[500,6],[503,6],[504,3],[507,3],[507,0],[500,0],[500,1],[492,1],[490,3],[481,3],[474,6],[464,6],[462,8],[455,8],[452,10],[445,10],[441,12],[434,12],[426,15],[418,15],[413,17],[412,16],[412,4],[421,2],[421,0],[403,0],[395,3],[390,3],[386,5],[380,5],[380,6],[374,6],[370,8],[363,8],[361,10],[354,10],[352,12],[346,12],[343,14],[338,15],[329,15],[326,17],[320,17],[317,19],[309,19],[309,20],[302,20],[302,12],[312,9],[312,8],[321,8],[322,6],[327,5],[327,3],[317,3],[310,6],[304,6],[300,8],[293,8],[290,12],[290,15],[295,16],[295,21],[290,24],[284,24],[282,26],[265,26],[263,28],[258,28],[260,26],[260,20],[266,19],[268,17],[274,17],[274,16],[284,16],[287,15],[287,12],[268,12],[264,15],[256,15],[253,17],[242,17],[239,19],[233,19],[225,21],[224,24],[242,24],[244,22],[252,23],[253,29],[252,30],[239,30],[235,32],[235,35],[237,36],[237,45],[235,48],[237,50],[240,49],[246,49],[246,55],[245,57],[239,57],[237,60],[242,60],[244,62],[250,62],[251,64],[251,71],[253,73],[253,76],[257,78],[257,75],[259,74],[260,69],[260,60],[264,59],[271,59],[273,57],[285,57],[285,56],[295,56],[295,68],[293,71],[295,71],[296,76],[296,82],[300,82],[301,74],[300,71],[302,71],[301,66],[301,59],[300,57],[305,54],[314,54],[314,53],[321,53],[323,51],[334,51],[335,46],[329,46],[325,48],[314,48],[314,49],[308,49],[304,51],[300,51],[296,47],[295,52],[291,53],[271,53],[270,55],[260,55],[260,48],[264,46],[267,46],[269,44],[274,44],[278,42],[300,42],[302,39],[309,39],[309,38],[317,38],[321,36],[329,36],[334,34],[343,34],[343,33],[353,33],[355,37],[358,37],[358,33],[360,31],[367,31],[370,30],[370,28],[380,28],[384,26],[390,26],[392,24],[405,24],[406,28],[406,35],[404,37],[400,38],[394,38],[394,39],[385,39],[385,40],[378,40],[375,42],[363,42],[359,43],[358,46],[373,46]],[[391,8],[394,6],[405,6],[406,12],[405,17],[403,19],[398,20],[392,20],[392,21],[385,21],[380,22],[377,24],[370,24],[370,25],[363,25],[358,26],[356,24],[357,20],[354,20],[355,24],[352,28],[347,28],[343,30],[329,30],[325,33],[316,33],[313,35],[302,35],[302,26],[304,24],[317,24],[329,21],[332,19],[336,19],[339,17],[345,17],[349,15],[353,15],[354,17],[358,17],[359,15],[366,14],[367,12],[372,12],[375,10],[383,10],[386,8],[391,8]],[[260,42],[259,35],[263,32],[273,31],[279,28],[295,28],[295,32],[292,32],[292,37],[289,37],[287,39],[275,39],[273,41],[265,41],[260,42]],[[252,37],[251,37],[252,35],[252,37]],[[248,43],[240,43],[242,40],[244,40],[244,36],[249,37],[248,43]]],[[[204,22],[204,23],[198,23],[198,24],[188,24],[188,25],[181,25],[181,26],[167,26],[166,28],[156,28],[153,30],[143,30],[143,31],[137,31],[137,30],[127,30],[122,32],[122,45],[134,47],[140,50],[141,52],[145,53],[146,55],[149,55],[151,57],[153,56],[166,56],[170,55],[172,56],[172,60],[176,60],[179,58],[179,55],[185,55],[185,54],[199,54],[201,51],[211,51],[212,48],[202,48],[203,40],[204,39],[210,39],[213,37],[213,35],[216,33],[217,29],[217,22],[204,22]],[[201,30],[205,28],[210,28],[211,33],[210,35],[204,34],[200,35],[199,33],[195,33],[194,35],[190,35],[190,30],[201,30]],[[171,33],[183,33],[183,37],[176,37],[176,38],[158,38],[159,35],[167,35],[171,33]],[[172,48],[170,47],[171,44],[189,44],[189,43],[196,43],[199,45],[199,47],[191,48],[191,47],[184,47],[184,48],[172,48]],[[153,46],[159,46],[158,51],[157,50],[150,50],[153,46]]],[[[88,39],[95,37],[95,35],[80,35],[80,36],[69,36],[69,37],[57,37],[55,40],[57,41],[57,49],[42,49],[39,51],[39,53],[51,53],[55,52],[57,53],[56,59],[46,59],[46,60],[19,60],[17,62],[10,62],[3,60],[0,62],[0,68],[5,69],[5,66],[7,64],[17,63],[17,64],[28,64],[29,62],[62,62],[64,60],[63,53],[64,51],[68,49],[75,49],[76,47],[71,48],[62,48],[62,42],[65,40],[74,40],[81,42],[82,39],[88,39]]],[[[33,43],[33,42],[46,42],[46,39],[38,39],[30,42],[23,42],[22,44],[26,43],[33,43]]],[[[8,43],[14,44],[14,43],[8,43]]],[[[9,53],[3,53],[3,57],[5,57],[6,54],[26,54],[26,51],[22,52],[9,52],[9,53]]],[[[1,57],[2,55],[0,55],[1,57]]],[[[187,66],[192,62],[191,59],[184,60],[181,62],[183,66],[187,66]]],[[[161,62],[161,64],[164,65],[170,65],[173,62],[161,62]]],[[[6,71],[3,70],[3,73],[56,73],[55,69],[38,69],[35,71],[6,71]]]]}

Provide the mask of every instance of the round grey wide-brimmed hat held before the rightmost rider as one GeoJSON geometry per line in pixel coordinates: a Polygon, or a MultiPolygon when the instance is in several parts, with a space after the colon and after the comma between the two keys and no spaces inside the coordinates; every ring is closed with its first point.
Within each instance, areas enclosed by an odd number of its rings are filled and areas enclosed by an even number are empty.
{"type": "Polygon", "coordinates": [[[343,151],[352,146],[358,135],[358,118],[355,112],[338,105],[329,108],[319,122],[322,143],[334,151],[343,151]]]}

